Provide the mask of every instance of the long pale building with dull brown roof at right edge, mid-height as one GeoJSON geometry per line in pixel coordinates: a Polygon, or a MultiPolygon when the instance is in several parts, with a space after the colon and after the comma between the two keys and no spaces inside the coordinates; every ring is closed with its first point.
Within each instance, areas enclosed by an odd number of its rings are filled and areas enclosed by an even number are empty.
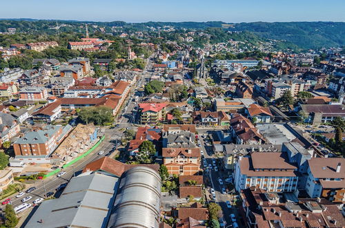
{"type": "Polygon", "coordinates": [[[301,104],[300,107],[308,116],[305,121],[315,125],[332,122],[335,117],[345,117],[345,109],[342,104],[301,104]]]}

